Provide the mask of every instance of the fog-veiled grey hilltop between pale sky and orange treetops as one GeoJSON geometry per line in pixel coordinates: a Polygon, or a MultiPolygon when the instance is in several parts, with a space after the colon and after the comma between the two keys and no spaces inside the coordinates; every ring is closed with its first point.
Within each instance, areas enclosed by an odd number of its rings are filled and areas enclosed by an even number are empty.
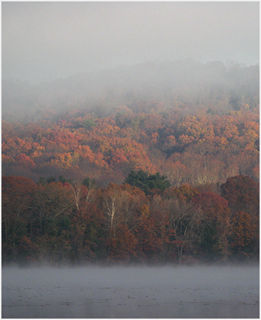
{"type": "Polygon", "coordinates": [[[150,62],[37,85],[4,79],[2,117],[6,121],[32,121],[47,109],[65,112],[75,107],[102,107],[108,111],[141,100],[178,101],[201,108],[214,105],[222,111],[240,109],[242,99],[255,108],[258,98],[259,65],[226,66],[221,61],[199,64],[192,60],[150,62]]]}

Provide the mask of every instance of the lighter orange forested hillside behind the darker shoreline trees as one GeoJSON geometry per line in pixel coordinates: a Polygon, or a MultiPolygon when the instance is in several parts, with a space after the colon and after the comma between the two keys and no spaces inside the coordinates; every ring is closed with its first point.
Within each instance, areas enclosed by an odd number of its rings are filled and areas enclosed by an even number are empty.
{"type": "Polygon", "coordinates": [[[172,186],[220,184],[236,174],[258,181],[259,116],[248,107],[184,116],[150,101],[102,118],[73,109],[35,123],[3,121],[2,153],[2,174],[35,182],[62,175],[106,186],[131,170],[160,172],[172,186]]]}

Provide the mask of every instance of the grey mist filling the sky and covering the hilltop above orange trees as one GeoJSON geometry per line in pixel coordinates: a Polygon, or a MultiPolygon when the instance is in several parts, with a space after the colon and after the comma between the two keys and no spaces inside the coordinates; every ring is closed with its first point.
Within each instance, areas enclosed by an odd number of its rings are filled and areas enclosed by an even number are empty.
{"type": "Polygon", "coordinates": [[[258,93],[259,2],[2,3],[6,121],[258,93]]]}

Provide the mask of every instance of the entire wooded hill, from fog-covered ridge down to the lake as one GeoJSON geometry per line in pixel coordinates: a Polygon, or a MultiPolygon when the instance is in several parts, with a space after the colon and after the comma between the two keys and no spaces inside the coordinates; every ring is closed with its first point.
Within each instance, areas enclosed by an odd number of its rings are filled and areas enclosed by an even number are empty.
{"type": "Polygon", "coordinates": [[[259,66],[3,88],[4,263],[258,259],[259,66]]]}

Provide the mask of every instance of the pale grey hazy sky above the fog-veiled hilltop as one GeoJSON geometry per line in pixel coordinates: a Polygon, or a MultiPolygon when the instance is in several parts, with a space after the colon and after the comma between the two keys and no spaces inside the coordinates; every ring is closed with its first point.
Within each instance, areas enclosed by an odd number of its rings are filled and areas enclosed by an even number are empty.
{"type": "Polygon", "coordinates": [[[2,78],[187,58],[259,63],[259,1],[1,4],[2,78]]]}

